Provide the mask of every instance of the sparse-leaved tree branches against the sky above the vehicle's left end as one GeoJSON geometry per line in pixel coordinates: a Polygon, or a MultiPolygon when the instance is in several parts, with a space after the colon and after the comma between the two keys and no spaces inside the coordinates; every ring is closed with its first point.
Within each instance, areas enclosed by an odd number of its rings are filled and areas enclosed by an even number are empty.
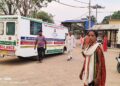
{"type": "Polygon", "coordinates": [[[29,16],[31,11],[38,11],[42,7],[46,7],[52,0],[0,0],[0,9],[7,15],[13,15],[17,11],[22,16],[29,16]]]}

